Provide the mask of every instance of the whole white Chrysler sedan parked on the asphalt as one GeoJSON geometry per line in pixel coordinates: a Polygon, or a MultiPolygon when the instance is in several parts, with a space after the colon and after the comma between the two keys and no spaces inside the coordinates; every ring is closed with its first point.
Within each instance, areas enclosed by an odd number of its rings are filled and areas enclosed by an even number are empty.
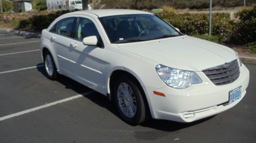
{"type": "Polygon", "coordinates": [[[238,104],[249,82],[237,52],[136,10],[62,15],[40,48],[50,79],[65,75],[105,95],[131,125],[214,116],[238,104]]]}

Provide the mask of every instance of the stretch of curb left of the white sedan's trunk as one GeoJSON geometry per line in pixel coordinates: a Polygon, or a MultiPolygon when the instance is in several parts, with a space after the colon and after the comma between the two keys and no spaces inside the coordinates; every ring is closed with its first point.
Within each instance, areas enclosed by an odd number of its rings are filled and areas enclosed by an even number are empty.
{"type": "Polygon", "coordinates": [[[0,28],[0,33],[2,34],[17,34],[19,36],[29,37],[29,38],[40,38],[41,34],[33,33],[33,32],[26,32],[26,31],[16,31],[10,30],[6,28],[0,28]]]}

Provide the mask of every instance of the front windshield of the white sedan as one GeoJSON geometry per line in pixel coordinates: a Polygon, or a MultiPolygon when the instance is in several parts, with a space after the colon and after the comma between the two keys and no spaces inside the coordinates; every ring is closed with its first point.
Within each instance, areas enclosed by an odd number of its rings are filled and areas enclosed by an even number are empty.
{"type": "Polygon", "coordinates": [[[99,18],[111,43],[130,43],[181,36],[173,26],[153,14],[99,18]]]}

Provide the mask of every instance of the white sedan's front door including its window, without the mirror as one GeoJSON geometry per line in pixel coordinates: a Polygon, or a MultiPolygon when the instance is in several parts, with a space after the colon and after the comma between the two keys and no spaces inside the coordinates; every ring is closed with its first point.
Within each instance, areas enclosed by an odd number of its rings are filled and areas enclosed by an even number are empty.
{"type": "MultiPolygon", "coordinates": [[[[73,76],[97,91],[103,91],[104,85],[104,67],[107,64],[105,59],[105,49],[103,46],[83,45],[82,39],[88,36],[96,36],[101,41],[99,32],[95,23],[88,18],[80,18],[77,20],[74,40],[70,44],[70,59],[73,61],[71,70],[73,76]]],[[[104,93],[105,94],[105,93],[104,93]]]]}

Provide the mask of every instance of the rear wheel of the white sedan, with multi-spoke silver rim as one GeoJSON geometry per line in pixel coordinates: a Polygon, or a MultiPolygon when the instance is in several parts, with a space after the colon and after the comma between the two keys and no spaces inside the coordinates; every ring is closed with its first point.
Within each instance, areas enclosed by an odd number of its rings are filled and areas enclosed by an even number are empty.
{"type": "Polygon", "coordinates": [[[58,77],[58,72],[54,64],[52,55],[49,52],[47,52],[45,54],[44,60],[47,77],[51,80],[56,80],[58,77]]]}

